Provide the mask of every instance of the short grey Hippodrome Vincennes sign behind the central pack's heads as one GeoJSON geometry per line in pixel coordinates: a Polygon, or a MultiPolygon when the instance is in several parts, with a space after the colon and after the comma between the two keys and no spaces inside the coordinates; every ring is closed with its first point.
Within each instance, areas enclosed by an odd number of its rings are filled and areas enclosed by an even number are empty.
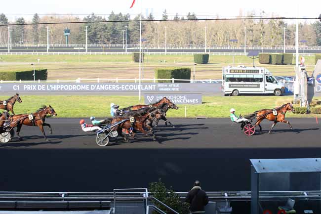
{"type": "Polygon", "coordinates": [[[201,93],[184,93],[184,94],[170,94],[170,93],[144,93],[145,104],[156,103],[160,101],[163,97],[167,97],[175,104],[201,104],[202,95],[201,93]]]}

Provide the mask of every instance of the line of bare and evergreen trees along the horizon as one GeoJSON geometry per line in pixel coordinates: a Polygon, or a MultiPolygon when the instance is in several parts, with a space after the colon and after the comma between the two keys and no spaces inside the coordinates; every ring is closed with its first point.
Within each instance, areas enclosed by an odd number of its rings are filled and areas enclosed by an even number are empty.
{"type": "MultiPolygon", "coordinates": [[[[264,11],[259,15],[254,12],[246,14],[249,17],[265,17],[264,11]]],[[[238,17],[242,17],[240,12],[238,17]]],[[[272,14],[273,17],[273,14],[272,14]]],[[[179,16],[177,13],[173,17],[177,21],[155,21],[152,13],[142,17],[149,22],[142,23],[142,38],[144,44],[163,46],[165,43],[165,28],[167,36],[167,45],[203,45],[205,42],[206,28],[206,45],[243,45],[244,34],[246,31],[247,45],[283,45],[283,36],[285,28],[286,45],[295,44],[295,24],[287,24],[281,19],[270,20],[197,20],[197,15],[189,12],[186,17],[179,16]],[[179,21],[187,20],[187,21],[179,21]],[[188,21],[190,20],[190,21],[188,21]],[[246,29],[244,29],[246,28],[246,29]],[[238,40],[237,43],[231,40],[238,40]]],[[[162,13],[162,20],[168,20],[166,10],[162,13]]],[[[95,15],[94,13],[80,19],[75,16],[58,16],[46,15],[40,17],[34,14],[31,23],[35,25],[17,25],[11,26],[11,43],[12,44],[46,44],[47,26],[39,25],[46,22],[92,22],[92,21],[122,21],[109,23],[80,23],[80,24],[50,24],[49,40],[50,43],[64,44],[65,36],[63,30],[71,29],[69,43],[84,44],[85,28],[87,26],[87,37],[89,44],[122,44],[125,37],[125,27],[127,26],[127,43],[139,43],[140,15],[131,19],[129,14],[114,13],[106,19],[105,17],[95,15]],[[128,22],[135,20],[137,22],[128,22]]],[[[8,24],[7,17],[0,14],[0,24],[8,24]]],[[[25,24],[27,21],[23,18],[17,18],[15,24],[25,24]]],[[[299,25],[299,40],[307,41],[301,45],[321,45],[321,23],[319,20],[314,23],[301,23],[299,25]]],[[[8,43],[8,28],[0,27],[0,44],[8,43]]]]}

